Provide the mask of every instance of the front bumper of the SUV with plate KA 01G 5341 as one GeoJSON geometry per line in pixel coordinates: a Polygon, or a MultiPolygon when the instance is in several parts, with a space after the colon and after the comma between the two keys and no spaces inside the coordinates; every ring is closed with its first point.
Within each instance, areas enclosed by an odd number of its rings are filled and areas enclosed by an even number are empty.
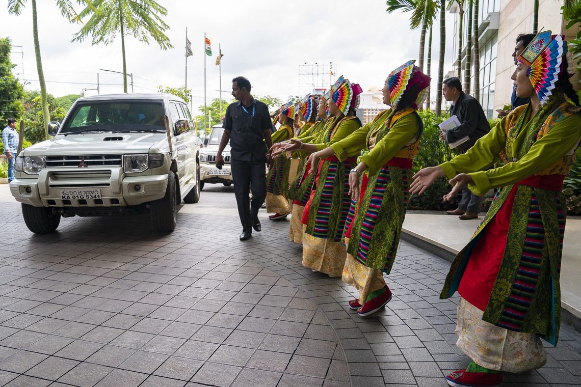
{"type": "Polygon", "coordinates": [[[163,198],[167,174],[127,176],[121,168],[77,171],[45,168],[39,175],[19,172],[10,182],[17,201],[34,207],[124,207],[163,198]],[[139,189],[136,189],[139,186],[139,189]],[[63,200],[61,190],[98,189],[101,199],[63,200]],[[28,192],[30,191],[30,192],[28,192]]]}

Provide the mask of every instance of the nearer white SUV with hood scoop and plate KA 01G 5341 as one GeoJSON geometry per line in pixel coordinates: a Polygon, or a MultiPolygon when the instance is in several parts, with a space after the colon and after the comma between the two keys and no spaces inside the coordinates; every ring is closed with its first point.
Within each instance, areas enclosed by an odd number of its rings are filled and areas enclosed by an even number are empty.
{"type": "MultiPolygon", "coordinates": [[[[52,123],[51,123],[52,124],[52,123]]],[[[33,233],[68,216],[149,213],[175,228],[177,204],[200,199],[199,149],[188,106],[168,94],[82,97],[55,138],[24,149],[10,191],[33,233]]]]}

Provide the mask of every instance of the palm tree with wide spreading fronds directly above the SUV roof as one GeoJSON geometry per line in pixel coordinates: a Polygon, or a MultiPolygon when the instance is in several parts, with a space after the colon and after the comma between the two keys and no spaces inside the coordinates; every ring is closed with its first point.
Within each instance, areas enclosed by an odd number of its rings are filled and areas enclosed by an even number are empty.
{"type": "MultiPolygon", "coordinates": [[[[89,0],[87,0],[89,1],[89,0]]],[[[121,53],[123,56],[123,92],[127,93],[127,64],[125,60],[125,35],[132,35],[149,44],[153,39],[163,50],[172,48],[170,38],[163,32],[169,26],[162,20],[167,9],[154,0],[90,0],[89,5],[79,13],[79,17],[89,20],[73,38],[83,41],[92,35],[92,44],[112,43],[121,35],[121,53]]]]}

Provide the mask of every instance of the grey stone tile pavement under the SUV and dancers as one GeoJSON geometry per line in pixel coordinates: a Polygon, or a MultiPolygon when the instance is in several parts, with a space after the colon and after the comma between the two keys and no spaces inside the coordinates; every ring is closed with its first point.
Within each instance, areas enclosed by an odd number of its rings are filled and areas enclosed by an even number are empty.
{"type": "MultiPolygon", "coordinates": [[[[362,319],[340,279],[300,265],[288,222],[240,242],[231,187],[207,185],[178,227],[146,216],[63,219],[28,232],[0,186],[0,384],[7,386],[446,386],[464,368],[449,263],[401,243],[389,308],[362,319]]],[[[581,385],[581,339],[503,386],[581,385]]]]}

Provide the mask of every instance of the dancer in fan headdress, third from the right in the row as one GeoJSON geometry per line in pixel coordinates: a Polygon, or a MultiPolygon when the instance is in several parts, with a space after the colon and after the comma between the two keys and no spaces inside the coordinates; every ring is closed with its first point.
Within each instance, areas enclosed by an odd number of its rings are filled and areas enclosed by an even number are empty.
{"type": "MultiPolygon", "coordinates": [[[[356,131],[361,122],[355,116],[361,87],[340,77],[323,99],[331,117],[325,124],[321,142],[306,144],[291,140],[283,150],[302,149],[313,153],[336,143],[356,131]]],[[[358,151],[341,161],[328,157],[318,165],[316,188],[303,211],[303,266],[317,272],[339,277],[345,264],[345,245],[341,242],[343,227],[349,211],[349,171],[357,162],[358,151]]]]}

